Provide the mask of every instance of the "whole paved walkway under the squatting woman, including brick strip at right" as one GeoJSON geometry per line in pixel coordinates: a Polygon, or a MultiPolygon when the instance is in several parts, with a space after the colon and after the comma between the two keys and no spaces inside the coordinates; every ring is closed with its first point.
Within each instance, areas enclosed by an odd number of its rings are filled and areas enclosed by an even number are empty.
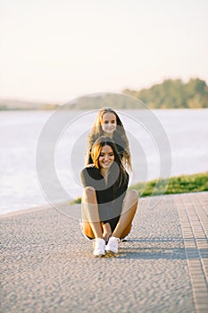
{"type": "Polygon", "coordinates": [[[141,199],[129,241],[94,258],[80,206],[4,216],[1,312],[207,312],[208,192],[141,199]]]}

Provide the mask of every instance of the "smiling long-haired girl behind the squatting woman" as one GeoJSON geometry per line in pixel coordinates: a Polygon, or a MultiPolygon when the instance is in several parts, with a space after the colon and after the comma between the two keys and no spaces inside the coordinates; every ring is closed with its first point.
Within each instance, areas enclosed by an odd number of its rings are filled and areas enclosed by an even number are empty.
{"type": "Polygon", "coordinates": [[[86,165],[93,164],[90,151],[94,142],[101,136],[108,136],[114,140],[123,165],[131,170],[129,140],[120,117],[110,107],[102,108],[96,116],[96,121],[88,136],[86,165]]]}

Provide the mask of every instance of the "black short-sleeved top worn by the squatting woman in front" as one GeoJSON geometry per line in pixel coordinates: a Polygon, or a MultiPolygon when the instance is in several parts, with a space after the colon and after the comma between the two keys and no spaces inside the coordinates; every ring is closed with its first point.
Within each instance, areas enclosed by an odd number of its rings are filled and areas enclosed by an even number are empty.
{"type": "Polygon", "coordinates": [[[104,181],[104,176],[95,166],[86,167],[80,173],[83,186],[91,186],[96,190],[100,221],[104,223],[121,215],[122,202],[129,183],[129,174],[126,172],[126,182],[118,186],[118,172],[118,165],[114,163],[111,173],[108,175],[107,185],[104,181]]]}

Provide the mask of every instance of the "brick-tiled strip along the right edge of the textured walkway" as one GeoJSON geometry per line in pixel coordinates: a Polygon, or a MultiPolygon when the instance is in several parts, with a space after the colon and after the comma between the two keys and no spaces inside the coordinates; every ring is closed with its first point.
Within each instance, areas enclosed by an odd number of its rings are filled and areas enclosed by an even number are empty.
{"type": "Polygon", "coordinates": [[[197,312],[208,312],[208,193],[174,197],[197,312]]]}

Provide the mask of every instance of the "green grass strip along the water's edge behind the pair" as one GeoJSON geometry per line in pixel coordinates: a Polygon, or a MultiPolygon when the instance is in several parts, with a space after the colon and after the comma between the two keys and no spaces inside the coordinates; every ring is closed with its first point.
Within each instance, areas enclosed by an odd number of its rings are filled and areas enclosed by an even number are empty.
{"type": "MultiPolygon", "coordinates": [[[[131,189],[137,190],[140,197],[207,191],[208,172],[171,177],[170,181],[168,179],[160,179],[150,182],[138,182],[129,186],[129,190],[131,189]]],[[[81,198],[79,197],[71,202],[71,204],[75,203],[81,203],[81,198]]]]}

